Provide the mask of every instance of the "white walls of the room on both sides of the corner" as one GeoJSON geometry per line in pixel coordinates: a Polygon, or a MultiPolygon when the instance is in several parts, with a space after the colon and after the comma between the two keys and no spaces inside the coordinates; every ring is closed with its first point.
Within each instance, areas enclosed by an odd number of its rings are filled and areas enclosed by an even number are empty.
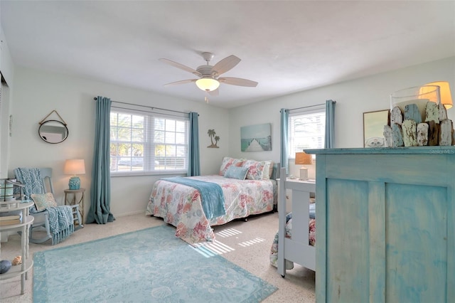
{"type": "MultiPolygon", "coordinates": [[[[18,166],[52,167],[56,198],[61,203],[69,178],[63,174],[65,159],[85,159],[87,174],[81,180],[82,186],[87,188],[87,213],[95,129],[93,97],[97,95],[122,102],[198,112],[201,172],[217,174],[223,156],[279,161],[279,110],[282,107],[291,109],[336,100],[336,147],[363,147],[363,112],[388,109],[389,95],[395,90],[436,80],[449,81],[454,96],[454,71],[455,57],[225,110],[119,85],[16,67],[9,176],[13,176],[12,169],[18,166]],[[52,110],[57,110],[68,124],[69,137],[60,144],[48,144],[38,137],[38,122],[52,110]],[[262,123],[272,123],[272,151],[241,152],[240,127],[262,123]],[[210,145],[208,129],[215,129],[220,137],[219,149],[207,148],[210,145]]],[[[455,120],[454,108],[448,111],[452,120],[455,120]]],[[[298,174],[298,168],[291,166],[290,173],[298,174]]],[[[314,177],[314,167],[309,175],[314,177]]],[[[114,216],[144,212],[151,186],[158,178],[112,178],[111,210],[114,216]]]]}

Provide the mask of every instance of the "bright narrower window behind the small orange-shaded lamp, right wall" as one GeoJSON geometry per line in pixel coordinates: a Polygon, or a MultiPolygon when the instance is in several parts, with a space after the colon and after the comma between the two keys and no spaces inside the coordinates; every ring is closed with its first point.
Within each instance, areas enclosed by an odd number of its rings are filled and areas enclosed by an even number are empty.
{"type": "Polygon", "coordinates": [[[289,114],[288,157],[294,159],[297,151],[323,149],[326,134],[325,107],[289,114]]]}

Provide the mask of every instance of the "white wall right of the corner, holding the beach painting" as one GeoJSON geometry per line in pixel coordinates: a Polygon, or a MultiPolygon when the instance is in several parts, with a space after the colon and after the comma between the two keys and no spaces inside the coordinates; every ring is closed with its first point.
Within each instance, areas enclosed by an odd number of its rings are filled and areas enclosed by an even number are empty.
{"type": "MultiPolygon", "coordinates": [[[[336,100],[335,147],[363,147],[363,112],[387,110],[390,93],[438,80],[449,81],[454,98],[455,57],[237,107],[230,111],[230,155],[279,161],[279,110],[317,105],[326,100],[336,100]],[[240,127],[262,123],[272,123],[272,151],[240,151],[240,127]]],[[[447,115],[455,122],[455,107],[447,115]]],[[[290,164],[290,174],[299,174],[294,164],[290,164]]],[[[309,176],[314,178],[314,167],[309,170],[309,176]]]]}

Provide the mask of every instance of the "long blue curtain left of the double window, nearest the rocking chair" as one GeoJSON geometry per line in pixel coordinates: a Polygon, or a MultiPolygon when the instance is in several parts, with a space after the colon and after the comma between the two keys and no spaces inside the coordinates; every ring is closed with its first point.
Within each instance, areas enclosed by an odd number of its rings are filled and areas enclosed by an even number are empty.
{"type": "Polygon", "coordinates": [[[110,112],[111,100],[107,97],[98,96],[90,210],[85,223],[106,224],[115,220],[110,212],[110,112]]]}

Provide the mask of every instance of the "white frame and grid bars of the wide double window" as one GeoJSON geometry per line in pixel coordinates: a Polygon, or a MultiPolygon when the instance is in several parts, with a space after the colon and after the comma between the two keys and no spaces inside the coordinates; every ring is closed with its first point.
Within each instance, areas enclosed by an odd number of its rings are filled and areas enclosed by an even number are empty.
{"type": "MultiPolygon", "coordinates": [[[[134,105],[132,105],[134,106],[134,105]]],[[[181,115],[169,115],[169,114],[165,114],[165,113],[161,113],[161,112],[151,112],[149,110],[136,110],[136,109],[133,109],[133,108],[125,108],[125,107],[116,107],[114,105],[112,105],[111,107],[111,110],[110,110],[110,113],[109,113],[109,118],[112,118],[112,114],[113,113],[116,113],[116,114],[126,114],[126,115],[137,115],[137,116],[142,116],[144,117],[144,121],[143,121],[143,124],[144,124],[144,128],[142,128],[142,131],[144,132],[144,138],[143,138],[143,141],[134,141],[132,138],[130,138],[130,140],[128,141],[125,141],[125,140],[113,140],[112,139],[112,120],[109,122],[109,125],[111,127],[110,129],[110,132],[109,132],[109,150],[111,148],[111,144],[114,143],[114,144],[118,144],[118,142],[125,142],[125,143],[130,143],[130,144],[134,144],[134,142],[137,142],[139,144],[143,144],[143,152],[142,152],[142,156],[140,156],[140,158],[142,159],[142,166],[141,166],[141,170],[132,170],[132,165],[129,165],[129,171],[117,171],[117,170],[112,170],[112,167],[114,168],[117,168],[118,169],[118,164],[112,164],[112,154],[111,152],[109,151],[109,164],[110,164],[110,176],[111,177],[115,177],[115,176],[156,176],[156,175],[175,175],[175,174],[186,174],[187,171],[188,171],[188,163],[189,163],[189,159],[188,159],[188,149],[189,149],[189,138],[190,138],[190,135],[189,135],[189,132],[190,132],[190,123],[189,123],[189,117],[188,115],[186,115],[185,113],[181,113],[181,115]],[[183,169],[154,169],[154,163],[155,163],[155,153],[154,153],[154,147],[157,145],[156,143],[156,136],[155,136],[155,119],[168,119],[168,120],[171,120],[171,121],[178,121],[178,122],[184,122],[184,143],[183,144],[179,144],[179,143],[176,143],[175,141],[173,142],[173,144],[171,143],[164,143],[164,142],[160,142],[158,144],[160,145],[168,145],[168,146],[174,146],[174,147],[181,147],[183,146],[183,149],[184,149],[184,152],[183,154],[185,155],[184,156],[184,159],[183,159],[183,169]],[[149,125],[150,124],[150,125],[149,125]],[[146,161],[146,159],[149,159],[149,161],[146,161]]],[[[166,122],[165,122],[166,123],[166,122]]],[[[117,127],[118,127],[118,122],[117,122],[117,127]]],[[[132,127],[132,125],[131,125],[132,127]]],[[[169,132],[169,131],[166,131],[166,132],[169,132]]],[[[177,132],[176,129],[173,130],[173,133],[174,135],[176,133],[180,133],[181,132],[177,132]]],[[[139,158],[139,157],[135,157],[134,155],[129,155],[129,156],[119,156],[118,155],[118,151],[117,151],[117,155],[114,155],[114,156],[117,156],[117,159],[121,159],[121,158],[130,158],[130,159],[134,159],[134,158],[139,158]]],[[[175,157],[174,157],[175,158],[175,157]]],[[[132,160],[133,161],[133,160],[132,160]]],[[[130,163],[132,163],[132,161],[130,163]]],[[[175,161],[175,159],[174,159],[175,161]]]]}

